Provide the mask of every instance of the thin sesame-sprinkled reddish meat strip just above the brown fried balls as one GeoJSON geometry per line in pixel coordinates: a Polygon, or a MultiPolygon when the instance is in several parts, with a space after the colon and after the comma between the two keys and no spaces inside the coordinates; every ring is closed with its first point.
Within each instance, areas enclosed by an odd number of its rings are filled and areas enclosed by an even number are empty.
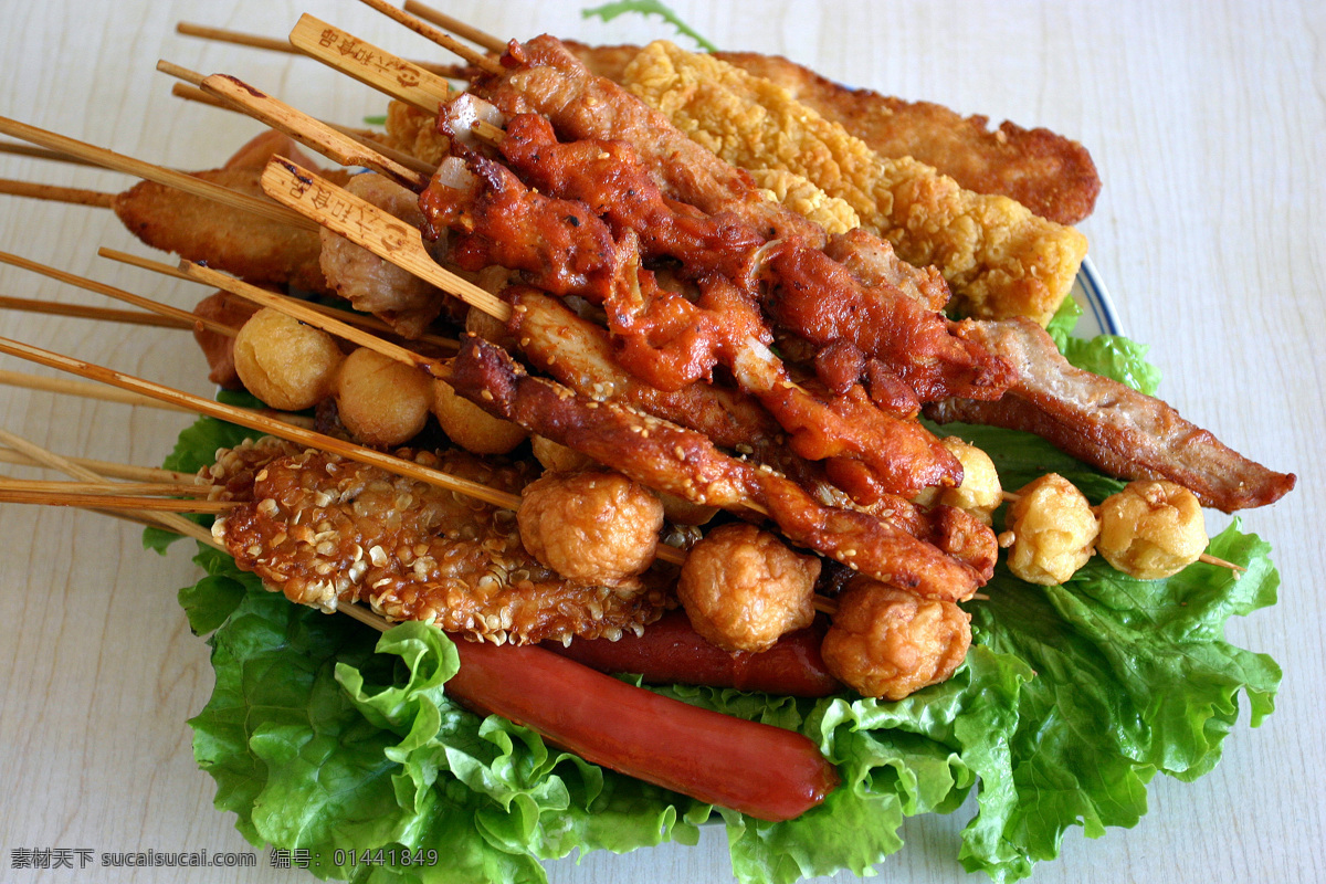
{"type": "Polygon", "coordinates": [[[728,457],[705,436],[639,410],[529,376],[505,350],[461,342],[448,383],[480,408],[603,463],[654,490],[744,517],[766,512],[789,541],[926,598],[969,599],[989,579],[873,516],[815,502],[785,476],[728,457]]]}

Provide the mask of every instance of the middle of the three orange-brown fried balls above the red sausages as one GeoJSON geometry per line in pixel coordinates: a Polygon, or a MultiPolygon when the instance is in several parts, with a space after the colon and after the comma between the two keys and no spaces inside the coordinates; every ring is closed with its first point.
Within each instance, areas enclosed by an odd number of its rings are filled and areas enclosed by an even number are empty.
{"type": "Polygon", "coordinates": [[[819,559],[800,555],[769,531],[721,525],[682,565],[676,595],[691,626],[727,651],[765,651],[815,619],[819,559]]]}

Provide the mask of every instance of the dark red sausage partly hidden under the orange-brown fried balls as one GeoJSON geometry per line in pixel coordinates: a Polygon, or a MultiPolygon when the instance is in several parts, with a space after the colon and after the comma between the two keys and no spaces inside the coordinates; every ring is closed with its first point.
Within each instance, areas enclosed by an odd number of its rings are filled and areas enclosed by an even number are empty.
{"type": "Polygon", "coordinates": [[[842,684],[819,657],[822,634],[815,627],[782,636],[760,653],[729,653],[691,628],[682,611],[666,614],[644,628],[644,635],[623,634],[617,641],[574,639],[545,644],[599,672],[634,672],[648,684],[703,684],[716,688],[764,691],[793,697],[823,697],[842,684]]]}

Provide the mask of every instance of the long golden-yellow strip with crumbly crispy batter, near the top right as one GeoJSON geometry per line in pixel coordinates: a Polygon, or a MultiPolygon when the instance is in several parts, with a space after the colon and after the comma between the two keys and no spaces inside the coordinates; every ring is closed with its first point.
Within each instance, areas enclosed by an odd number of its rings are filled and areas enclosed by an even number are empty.
{"type": "Polygon", "coordinates": [[[911,156],[884,158],[781,86],[666,41],[626,69],[627,87],[716,155],[781,168],[846,200],[862,224],[918,266],[935,265],[951,310],[1041,325],[1073,286],[1086,237],[1005,196],[963,190],[911,156]]]}

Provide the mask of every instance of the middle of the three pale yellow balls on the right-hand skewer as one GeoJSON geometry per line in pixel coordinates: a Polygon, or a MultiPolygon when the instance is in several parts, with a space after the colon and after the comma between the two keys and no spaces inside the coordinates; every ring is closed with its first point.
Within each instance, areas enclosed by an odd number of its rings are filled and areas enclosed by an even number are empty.
{"type": "Polygon", "coordinates": [[[1009,570],[1028,583],[1063,583],[1091,558],[1101,531],[1091,504],[1058,473],[1041,476],[1018,494],[1000,535],[1000,546],[1012,538],[1009,570]]]}

